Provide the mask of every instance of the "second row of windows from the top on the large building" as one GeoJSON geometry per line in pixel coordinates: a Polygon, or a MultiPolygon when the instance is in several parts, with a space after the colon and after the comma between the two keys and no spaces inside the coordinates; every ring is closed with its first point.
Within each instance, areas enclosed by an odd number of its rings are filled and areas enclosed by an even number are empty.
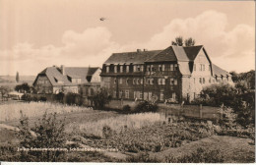
{"type": "MultiPolygon", "coordinates": [[[[126,84],[128,84],[129,79],[126,79],[126,84]]],[[[117,80],[114,80],[114,83],[117,83],[117,80]]],[[[119,79],[119,83],[123,83],[123,79],[120,78],[119,79]]],[[[176,78],[170,78],[169,79],[169,83],[170,84],[177,84],[178,81],[176,78]]],[[[143,79],[133,79],[133,84],[143,84],[143,79]]],[[[146,84],[154,84],[154,79],[150,78],[150,79],[146,79],[146,84]]],[[[159,78],[158,79],[158,84],[165,84],[165,79],[164,78],[159,78]]]]}

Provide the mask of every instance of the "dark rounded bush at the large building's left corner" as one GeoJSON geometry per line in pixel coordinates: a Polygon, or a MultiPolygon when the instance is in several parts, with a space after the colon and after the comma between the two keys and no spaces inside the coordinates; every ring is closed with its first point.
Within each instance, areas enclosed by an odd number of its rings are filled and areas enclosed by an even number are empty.
{"type": "Polygon", "coordinates": [[[108,94],[108,91],[105,88],[100,88],[96,95],[93,96],[93,101],[96,108],[104,108],[104,105],[111,100],[111,96],[108,94]]]}

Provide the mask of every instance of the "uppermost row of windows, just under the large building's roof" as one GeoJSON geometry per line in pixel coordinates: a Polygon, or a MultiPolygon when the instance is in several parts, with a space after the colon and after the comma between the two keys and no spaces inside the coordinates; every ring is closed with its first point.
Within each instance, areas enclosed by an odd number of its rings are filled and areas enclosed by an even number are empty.
{"type": "MultiPolygon", "coordinates": [[[[177,71],[178,65],[177,64],[160,64],[156,67],[156,65],[147,65],[146,66],[148,72],[155,72],[155,71],[177,71]]],[[[133,72],[143,72],[144,66],[143,65],[134,65],[133,72]]],[[[120,66],[119,73],[129,73],[130,66],[120,66]],[[125,70],[124,70],[125,68],[125,70]]],[[[109,66],[106,66],[106,73],[109,73],[109,66]]],[[[118,73],[117,65],[114,66],[114,73],[118,73]]]]}

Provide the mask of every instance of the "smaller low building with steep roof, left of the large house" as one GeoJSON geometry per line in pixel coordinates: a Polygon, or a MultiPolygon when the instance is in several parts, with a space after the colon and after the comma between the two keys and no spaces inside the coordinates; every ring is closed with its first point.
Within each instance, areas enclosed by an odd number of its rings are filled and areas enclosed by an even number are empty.
{"type": "Polygon", "coordinates": [[[37,93],[92,92],[91,88],[99,87],[100,72],[98,67],[48,67],[37,75],[33,86],[37,93]]]}

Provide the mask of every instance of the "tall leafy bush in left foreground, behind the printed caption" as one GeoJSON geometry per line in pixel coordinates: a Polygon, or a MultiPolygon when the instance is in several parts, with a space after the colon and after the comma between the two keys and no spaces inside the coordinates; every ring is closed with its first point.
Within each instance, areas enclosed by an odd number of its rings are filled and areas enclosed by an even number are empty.
{"type": "Polygon", "coordinates": [[[29,118],[22,114],[18,134],[20,147],[47,149],[22,151],[21,161],[56,162],[65,160],[65,151],[50,150],[50,148],[63,149],[66,147],[67,136],[64,133],[64,121],[57,120],[56,113],[47,114],[45,112],[32,129],[29,126],[29,118]]]}

